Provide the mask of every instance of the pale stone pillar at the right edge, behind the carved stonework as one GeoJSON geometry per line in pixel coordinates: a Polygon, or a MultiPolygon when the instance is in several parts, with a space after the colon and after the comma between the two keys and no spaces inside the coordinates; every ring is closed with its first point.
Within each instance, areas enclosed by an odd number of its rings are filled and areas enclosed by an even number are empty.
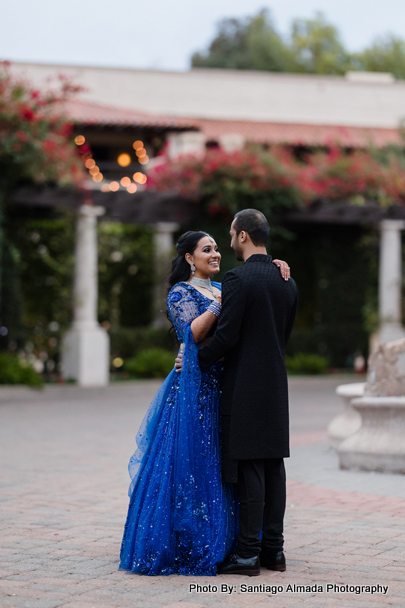
{"type": "Polygon", "coordinates": [[[402,290],[402,220],[383,220],[380,237],[379,276],[379,342],[392,342],[405,337],[401,323],[402,290]]]}

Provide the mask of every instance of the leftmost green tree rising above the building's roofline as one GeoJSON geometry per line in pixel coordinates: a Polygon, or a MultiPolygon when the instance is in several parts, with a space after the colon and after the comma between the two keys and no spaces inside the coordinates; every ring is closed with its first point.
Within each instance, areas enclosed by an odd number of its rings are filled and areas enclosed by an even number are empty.
{"type": "Polygon", "coordinates": [[[294,71],[291,49],[276,32],[268,11],[255,17],[223,19],[207,53],[194,53],[193,67],[294,71]]]}

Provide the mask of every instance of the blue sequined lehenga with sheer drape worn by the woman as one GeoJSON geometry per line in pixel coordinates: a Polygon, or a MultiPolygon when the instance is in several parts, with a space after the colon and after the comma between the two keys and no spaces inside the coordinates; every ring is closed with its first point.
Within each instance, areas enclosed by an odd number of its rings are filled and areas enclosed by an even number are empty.
{"type": "Polygon", "coordinates": [[[121,570],[215,575],[233,548],[236,495],[222,484],[220,470],[222,364],[200,371],[190,328],[210,303],[183,282],[168,295],[177,337],[185,343],[183,367],[168,375],[136,437],[121,570]]]}

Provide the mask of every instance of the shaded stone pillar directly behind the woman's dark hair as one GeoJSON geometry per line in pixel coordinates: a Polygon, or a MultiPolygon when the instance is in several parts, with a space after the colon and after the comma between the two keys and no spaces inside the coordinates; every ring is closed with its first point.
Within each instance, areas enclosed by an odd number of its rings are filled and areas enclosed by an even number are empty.
{"type": "Polygon", "coordinates": [[[179,230],[180,226],[175,222],[158,222],[154,227],[156,232],[154,237],[155,287],[153,327],[165,327],[167,325],[167,278],[174,255],[173,233],[179,230]]]}

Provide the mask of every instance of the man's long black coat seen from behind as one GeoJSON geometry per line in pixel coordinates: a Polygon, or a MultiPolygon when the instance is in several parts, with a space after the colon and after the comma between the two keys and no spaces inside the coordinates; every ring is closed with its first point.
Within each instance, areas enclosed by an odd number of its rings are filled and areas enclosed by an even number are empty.
{"type": "MultiPolygon", "coordinates": [[[[204,370],[225,356],[221,411],[225,460],[289,456],[284,348],[297,303],[296,283],[281,277],[269,255],[252,255],[224,276],[218,327],[211,342],[200,349],[199,361],[204,370]]],[[[225,475],[224,481],[236,481],[226,477],[233,474],[225,475]]]]}

